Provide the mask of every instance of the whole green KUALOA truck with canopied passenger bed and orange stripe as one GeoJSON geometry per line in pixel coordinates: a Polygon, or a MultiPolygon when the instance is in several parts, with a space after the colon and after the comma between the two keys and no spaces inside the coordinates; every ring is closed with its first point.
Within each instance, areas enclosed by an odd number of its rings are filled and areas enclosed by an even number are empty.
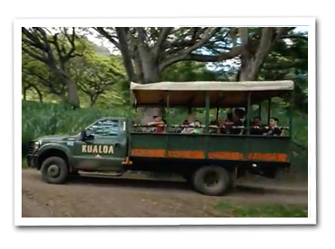
{"type": "Polygon", "coordinates": [[[292,130],[280,128],[282,136],[253,135],[255,127],[244,125],[240,134],[213,132],[226,128],[210,125],[211,109],[242,107],[247,112],[245,124],[250,124],[251,105],[268,100],[269,120],[271,98],[289,95],[293,89],[292,81],[131,83],[136,107],[205,107],[203,132],[172,131],[192,128],[172,123],[163,125],[165,132],[146,132],[148,125],[134,124],[131,117],[106,117],[76,135],[32,141],[28,165],[41,170],[42,180],[49,183],[66,182],[78,171],[178,173],[196,191],[222,195],[245,172],[274,178],[278,171],[289,170],[292,130]]]}

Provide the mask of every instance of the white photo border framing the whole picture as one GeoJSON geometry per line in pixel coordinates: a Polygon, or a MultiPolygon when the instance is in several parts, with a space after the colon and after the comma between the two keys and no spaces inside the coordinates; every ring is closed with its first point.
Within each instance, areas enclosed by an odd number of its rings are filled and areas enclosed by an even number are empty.
{"type": "Polygon", "coordinates": [[[179,225],[314,225],[316,224],[316,58],[315,18],[110,18],[14,20],[14,225],[15,226],[179,226],[179,225]],[[22,27],[159,27],[286,26],[308,27],[308,218],[22,218],[22,27]]]}

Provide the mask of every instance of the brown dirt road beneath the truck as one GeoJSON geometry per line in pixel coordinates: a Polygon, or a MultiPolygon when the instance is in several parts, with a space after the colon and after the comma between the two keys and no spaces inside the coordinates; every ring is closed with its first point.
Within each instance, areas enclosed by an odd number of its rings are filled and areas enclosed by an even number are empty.
{"type": "MultiPolygon", "coordinates": [[[[218,217],[219,201],[307,204],[307,188],[295,190],[240,185],[222,197],[193,191],[186,182],[80,176],[65,185],[41,182],[23,169],[23,217],[218,217]]],[[[242,182],[243,183],[243,182],[242,182]]]]}

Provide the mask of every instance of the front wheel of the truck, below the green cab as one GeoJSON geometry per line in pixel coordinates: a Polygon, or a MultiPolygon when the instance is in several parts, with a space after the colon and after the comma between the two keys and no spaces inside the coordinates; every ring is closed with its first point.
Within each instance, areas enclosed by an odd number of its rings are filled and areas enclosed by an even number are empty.
{"type": "Polygon", "coordinates": [[[63,158],[51,156],[41,165],[42,180],[52,184],[62,184],[68,177],[68,165],[63,158]]]}

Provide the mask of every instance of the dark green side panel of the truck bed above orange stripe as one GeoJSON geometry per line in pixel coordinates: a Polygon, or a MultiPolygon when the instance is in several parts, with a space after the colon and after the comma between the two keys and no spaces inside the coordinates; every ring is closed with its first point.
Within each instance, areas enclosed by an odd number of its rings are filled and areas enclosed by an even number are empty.
{"type": "MultiPolygon", "coordinates": [[[[240,136],[240,135],[188,135],[188,134],[144,134],[132,133],[132,147],[138,149],[167,149],[178,151],[208,151],[241,153],[289,153],[289,137],[240,136]],[[164,137],[169,137],[166,144],[164,137]],[[206,139],[208,144],[206,145],[206,139]],[[245,146],[249,148],[245,151],[245,146]]],[[[239,161],[239,160],[238,160],[239,161]]]]}

